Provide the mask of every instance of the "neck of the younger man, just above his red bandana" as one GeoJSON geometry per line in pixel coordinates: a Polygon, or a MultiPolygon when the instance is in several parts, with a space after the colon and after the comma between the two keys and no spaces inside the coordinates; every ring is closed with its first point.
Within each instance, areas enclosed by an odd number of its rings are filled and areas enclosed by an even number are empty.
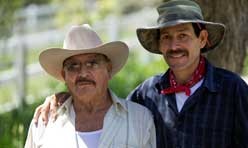
{"type": "Polygon", "coordinates": [[[188,80],[190,80],[193,73],[197,69],[199,61],[200,58],[198,58],[197,61],[194,62],[190,68],[181,69],[181,70],[172,70],[178,84],[185,84],[188,80]]]}

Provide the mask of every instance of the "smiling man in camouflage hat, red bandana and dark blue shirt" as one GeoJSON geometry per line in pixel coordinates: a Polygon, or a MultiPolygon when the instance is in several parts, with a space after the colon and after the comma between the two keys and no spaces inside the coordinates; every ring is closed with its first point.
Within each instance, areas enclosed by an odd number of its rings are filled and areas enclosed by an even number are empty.
{"type": "Polygon", "coordinates": [[[220,44],[225,26],[204,21],[190,0],[171,0],[157,10],[158,25],[137,29],[137,36],[169,69],[128,97],[152,111],[157,147],[248,148],[248,86],[203,56],[220,44]]]}

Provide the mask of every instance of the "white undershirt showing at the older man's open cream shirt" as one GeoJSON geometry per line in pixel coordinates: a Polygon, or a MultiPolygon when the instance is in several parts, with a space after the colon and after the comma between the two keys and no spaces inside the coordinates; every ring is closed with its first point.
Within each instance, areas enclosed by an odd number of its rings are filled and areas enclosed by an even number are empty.
{"type": "Polygon", "coordinates": [[[76,132],[78,148],[97,148],[102,129],[92,132],[76,132]]]}

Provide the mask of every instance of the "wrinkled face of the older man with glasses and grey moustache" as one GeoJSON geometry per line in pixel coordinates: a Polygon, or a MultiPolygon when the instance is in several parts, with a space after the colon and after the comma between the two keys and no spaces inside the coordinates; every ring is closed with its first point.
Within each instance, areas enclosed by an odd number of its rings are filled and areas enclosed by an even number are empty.
{"type": "Polygon", "coordinates": [[[107,92],[111,62],[101,54],[81,54],[64,61],[62,75],[73,96],[102,96],[107,92]]]}

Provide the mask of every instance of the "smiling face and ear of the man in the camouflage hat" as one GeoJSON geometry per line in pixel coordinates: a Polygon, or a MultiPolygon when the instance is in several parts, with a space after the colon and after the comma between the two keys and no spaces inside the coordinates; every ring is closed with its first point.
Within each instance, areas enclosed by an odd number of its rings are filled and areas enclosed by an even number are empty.
{"type": "Polygon", "coordinates": [[[159,50],[173,71],[193,71],[199,62],[200,49],[207,41],[208,33],[194,33],[191,23],[179,24],[160,30],[159,50]]]}

